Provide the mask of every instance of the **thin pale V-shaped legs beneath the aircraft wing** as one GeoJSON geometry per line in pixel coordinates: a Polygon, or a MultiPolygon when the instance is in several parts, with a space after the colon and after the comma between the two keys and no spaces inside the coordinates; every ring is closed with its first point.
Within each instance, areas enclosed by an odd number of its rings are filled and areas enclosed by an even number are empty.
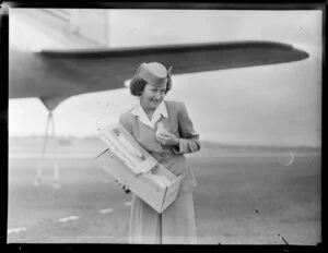
{"type": "Polygon", "coordinates": [[[43,180],[43,169],[44,169],[44,159],[45,159],[45,153],[47,147],[47,140],[48,140],[48,129],[51,121],[51,137],[54,141],[54,183],[52,186],[55,189],[59,189],[59,167],[58,167],[58,154],[57,154],[57,142],[56,142],[56,134],[55,134],[55,119],[52,115],[52,110],[48,110],[48,118],[47,118],[47,124],[45,130],[45,136],[44,136],[44,143],[42,147],[42,156],[39,159],[39,165],[37,167],[36,172],[36,180],[34,181],[34,185],[38,186],[42,183],[43,180]]]}

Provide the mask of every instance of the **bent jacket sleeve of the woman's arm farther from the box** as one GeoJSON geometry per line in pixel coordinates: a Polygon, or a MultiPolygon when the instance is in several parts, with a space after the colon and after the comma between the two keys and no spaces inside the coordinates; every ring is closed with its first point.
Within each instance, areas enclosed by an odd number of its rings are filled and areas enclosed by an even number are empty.
{"type": "Polygon", "coordinates": [[[195,131],[186,105],[180,104],[178,111],[178,131],[180,134],[178,146],[173,147],[175,154],[194,153],[200,149],[199,134],[195,131]]]}

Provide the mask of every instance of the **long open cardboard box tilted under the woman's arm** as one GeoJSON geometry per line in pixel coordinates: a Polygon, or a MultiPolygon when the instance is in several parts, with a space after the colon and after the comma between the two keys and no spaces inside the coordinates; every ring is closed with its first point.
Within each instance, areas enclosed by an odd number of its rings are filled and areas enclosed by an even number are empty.
{"type": "Polygon", "coordinates": [[[119,123],[101,130],[99,137],[108,149],[94,160],[106,172],[125,182],[157,213],[175,201],[181,176],[176,177],[159,164],[119,123]]]}

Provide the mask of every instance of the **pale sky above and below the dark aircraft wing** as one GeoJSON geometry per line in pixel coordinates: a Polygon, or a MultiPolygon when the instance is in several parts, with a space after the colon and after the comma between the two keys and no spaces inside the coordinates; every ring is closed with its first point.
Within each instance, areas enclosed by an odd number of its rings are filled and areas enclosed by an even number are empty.
{"type": "MultiPolygon", "coordinates": [[[[320,11],[110,10],[109,20],[112,47],[273,40],[306,50],[298,62],[173,75],[166,99],[185,101],[204,141],[320,146],[320,11]]],[[[94,135],[137,103],[127,88],[68,98],[56,133],[94,135]]],[[[10,99],[9,134],[44,134],[46,117],[36,98],[10,99]]]]}

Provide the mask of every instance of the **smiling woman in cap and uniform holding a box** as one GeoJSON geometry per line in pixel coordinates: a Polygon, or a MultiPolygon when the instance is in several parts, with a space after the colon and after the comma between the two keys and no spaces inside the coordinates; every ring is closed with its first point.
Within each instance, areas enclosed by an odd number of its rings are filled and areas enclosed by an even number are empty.
{"type": "Polygon", "coordinates": [[[192,201],[196,180],[184,154],[199,150],[199,135],[185,104],[164,100],[171,88],[171,74],[163,64],[142,63],[130,82],[130,92],[140,104],[119,118],[160,164],[183,176],[177,198],[162,214],[132,195],[129,243],[197,243],[192,201]]]}

